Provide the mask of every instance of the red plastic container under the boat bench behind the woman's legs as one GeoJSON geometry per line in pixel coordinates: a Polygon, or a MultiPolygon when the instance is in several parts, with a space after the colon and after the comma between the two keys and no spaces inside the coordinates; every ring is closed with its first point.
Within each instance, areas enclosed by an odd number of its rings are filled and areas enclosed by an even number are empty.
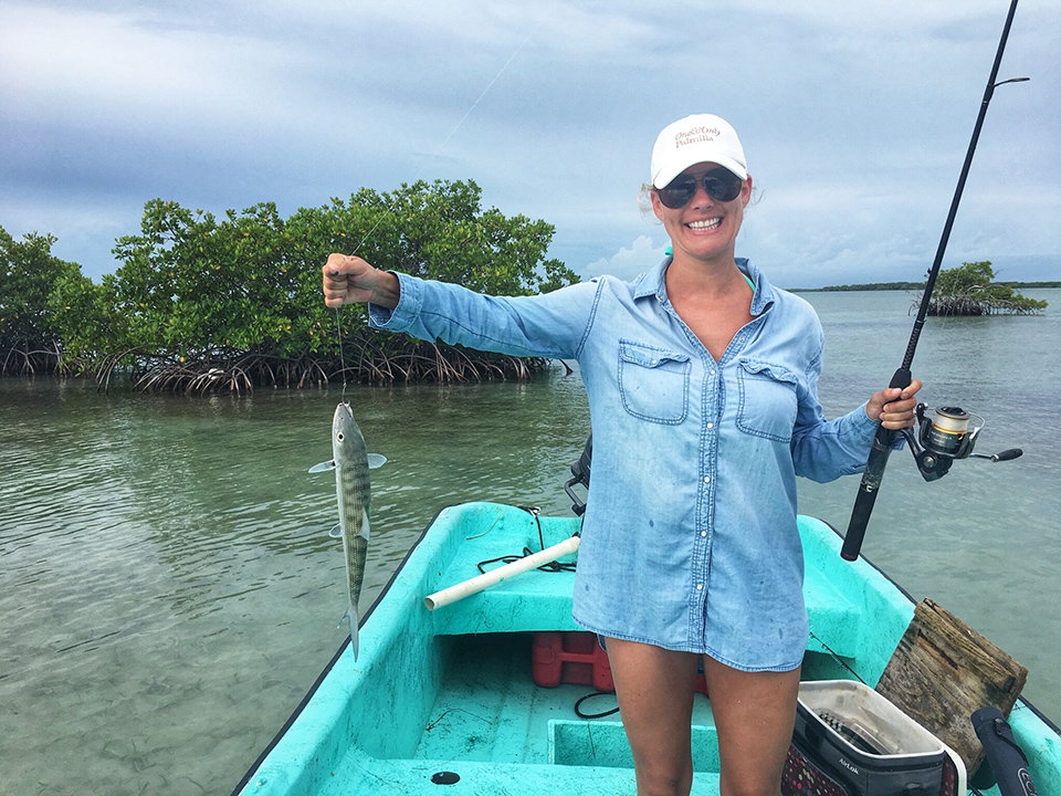
{"type": "MultiPolygon", "coordinates": [[[[530,677],[542,688],[568,683],[592,685],[606,692],[616,690],[608,653],[600,648],[597,633],[586,630],[540,630],[534,633],[530,677]]],[[[696,675],[696,690],[707,693],[703,674],[696,675]]]]}

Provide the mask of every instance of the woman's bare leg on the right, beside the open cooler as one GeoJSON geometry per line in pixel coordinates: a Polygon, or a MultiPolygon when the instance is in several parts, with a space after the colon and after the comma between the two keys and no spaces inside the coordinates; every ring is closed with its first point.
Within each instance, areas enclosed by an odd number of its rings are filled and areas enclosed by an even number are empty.
{"type": "Polygon", "coordinates": [[[792,741],[799,669],[746,672],[704,656],[718,730],[721,796],[778,796],[792,741]]]}

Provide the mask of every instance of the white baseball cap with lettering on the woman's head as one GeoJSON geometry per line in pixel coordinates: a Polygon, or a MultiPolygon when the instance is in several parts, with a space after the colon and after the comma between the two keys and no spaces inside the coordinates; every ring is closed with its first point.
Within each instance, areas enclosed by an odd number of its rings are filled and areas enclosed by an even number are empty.
{"type": "Polygon", "coordinates": [[[670,124],[652,147],[652,185],[666,188],[690,166],[716,163],[742,180],[748,178],[744,147],[728,122],[713,114],[694,114],[670,124]]]}

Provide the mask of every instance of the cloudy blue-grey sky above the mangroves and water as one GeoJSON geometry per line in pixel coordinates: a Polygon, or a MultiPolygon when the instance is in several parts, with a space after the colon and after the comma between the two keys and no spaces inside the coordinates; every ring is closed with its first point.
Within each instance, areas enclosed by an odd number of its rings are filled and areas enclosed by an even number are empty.
{"type": "MultiPolygon", "coordinates": [[[[632,277],[659,132],[737,129],[737,254],[782,287],[917,281],[969,146],[1006,0],[0,0],[0,227],[98,281],[155,198],[284,216],[472,179],[632,277]]],[[[1017,8],[944,265],[1061,280],[1061,3],[1017,8]]],[[[375,263],[386,266],[386,263],[375,263]]]]}

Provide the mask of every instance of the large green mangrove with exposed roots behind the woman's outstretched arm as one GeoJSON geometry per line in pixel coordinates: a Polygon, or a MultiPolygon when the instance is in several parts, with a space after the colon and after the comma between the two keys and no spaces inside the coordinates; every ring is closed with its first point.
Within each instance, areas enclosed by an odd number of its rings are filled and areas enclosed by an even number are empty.
{"type": "Polygon", "coordinates": [[[272,202],[217,218],[156,199],[139,234],[116,241],[119,265],[101,284],[53,265],[51,292],[31,303],[46,307],[34,318],[48,318],[43,339],[60,347],[69,370],[104,384],[127,371],[137,389],[525,378],[545,360],[371,332],[364,306],[328,310],[321,268],[338,251],[474,291],[527,295],[577,281],[546,256],[553,232],[545,221],[483,210],[471,180],[366,188],[288,218],[272,202]]]}

